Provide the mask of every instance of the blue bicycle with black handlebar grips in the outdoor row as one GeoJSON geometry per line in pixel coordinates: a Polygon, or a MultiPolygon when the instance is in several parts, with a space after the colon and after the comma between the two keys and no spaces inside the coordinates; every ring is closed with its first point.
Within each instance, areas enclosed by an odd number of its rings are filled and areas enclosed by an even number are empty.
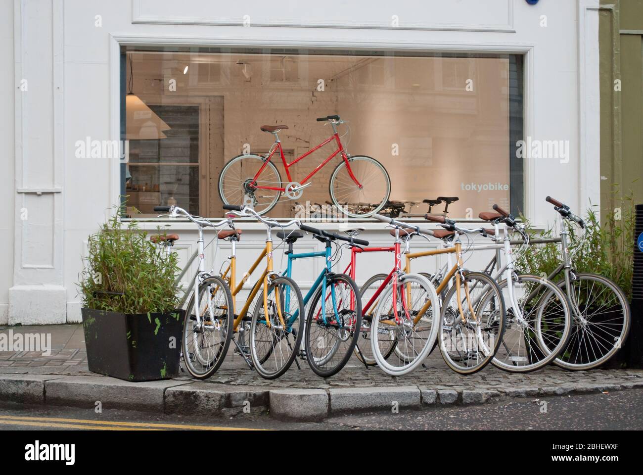
{"type": "MultiPolygon", "coordinates": [[[[300,225],[301,230],[311,232],[315,239],[325,243],[325,250],[294,254],[293,244],[303,237],[300,231],[279,231],[277,237],[288,245],[285,254],[288,265],[285,277],[292,278],[293,262],[297,259],[324,257],[326,265],[303,297],[307,307],[304,324],[303,357],[312,371],[327,378],[338,373],[347,364],[358,341],[361,328],[361,298],[357,284],[349,275],[332,272],[332,243],[347,241],[350,245],[368,246],[368,241],[354,237],[300,225]]],[[[287,297],[286,297],[287,298],[287,297]]],[[[286,303],[287,305],[287,303],[286,303]]],[[[359,349],[358,349],[359,351],[359,349]]]]}

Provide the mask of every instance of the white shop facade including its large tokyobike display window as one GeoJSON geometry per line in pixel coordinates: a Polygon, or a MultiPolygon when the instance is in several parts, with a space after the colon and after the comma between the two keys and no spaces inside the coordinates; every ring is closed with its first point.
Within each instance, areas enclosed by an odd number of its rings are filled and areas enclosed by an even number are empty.
{"type": "MultiPolygon", "coordinates": [[[[0,324],[80,321],[76,283],[87,236],[121,196],[128,196],[123,219],[179,234],[176,251],[188,259],[194,225],[158,219],[153,207],[177,204],[221,218],[219,173],[239,154],[269,151],[274,136],[264,125],[288,126],[279,138],[291,162],[331,135],[316,118],[340,115],[347,151],[383,164],[390,200],[407,214],[427,212],[423,200],[457,197],[451,218],[473,224],[498,203],[547,228],[554,221],[547,195],[577,210],[599,203],[598,6],[4,2],[0,48],[10,67],[0,74],[12,87],[0,94],[14,107],[0,111],[8,144],[0,176],[0,324]]],[[[321,147],[298,162],[293,181],[332,152],[321,147]]],[[[268,216],[319,218],[338,160],[296,200],[280,198],[268,216]]],[[[322,221],[314,225],[359,225],[373,245],[391,243],[372,219],[322,221]]],[[[251,221],[238,227],[243,269],[265,231],[251,221]]],[[[440,245],[418,241],[413,249],[440,245]]],[[[322,246],[310,236],[296,243],[301,252],[322,246]]],[[[209,253],[213,268],[228,249],[221,243],[209,253]]],[[[349,255],[341,256],[341,270],[349,255]]],[[[285,259],[276,256],[280,265],[285,259]]],[[[302,288],[321,265],[295,268],[302,288]]],[[[440,265],[427,261],[425,270],[440,265]]],[[[391,266],[388,255],[370,256],[356,280],[391,266]]]]}

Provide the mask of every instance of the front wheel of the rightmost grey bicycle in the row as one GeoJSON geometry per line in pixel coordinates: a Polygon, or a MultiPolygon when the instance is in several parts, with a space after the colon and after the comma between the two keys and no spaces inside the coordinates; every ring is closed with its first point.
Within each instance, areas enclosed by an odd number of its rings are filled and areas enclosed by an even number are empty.
{"type": "MultiPolygon", "coordinates": [[[[565,369],[593,369],[607,362],[628,337],[631,313],[617,284],[597,274],[577,274],[567,295],[574,324],[554,363],[565,369]]],[[[566,290],[565,281],[558,284],[566,290]]]]}

